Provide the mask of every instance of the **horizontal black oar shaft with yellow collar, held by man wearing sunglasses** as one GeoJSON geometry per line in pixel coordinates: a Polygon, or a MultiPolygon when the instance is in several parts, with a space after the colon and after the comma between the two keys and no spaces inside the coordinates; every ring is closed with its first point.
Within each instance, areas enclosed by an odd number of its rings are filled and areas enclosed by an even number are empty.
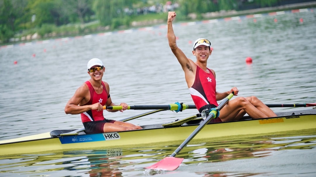
{"type": "MultiPolygon", "coordinates": [[[[185,109],[195,109],[195,105],[185,105],[183,103],[173,103],[169,105],[134,105],[128,106],[127,109],[134,109],[134,110],[149,110],[149,109],[164,109],[164,110],[171,110],[171,111],[182,111],[185,109]]],[[[112,110],[121,110],[122,106],[103,106],[103,109],[112,109],[112,110]]]]}

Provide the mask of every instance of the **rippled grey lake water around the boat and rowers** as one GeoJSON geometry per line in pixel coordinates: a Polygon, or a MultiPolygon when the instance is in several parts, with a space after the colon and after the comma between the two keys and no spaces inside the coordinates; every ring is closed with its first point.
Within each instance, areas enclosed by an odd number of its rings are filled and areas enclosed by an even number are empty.
{"type": "MultiPolygon", "coordinates": [[[[192,42],[210,39],[214,50],[208,67],[216,71],[217,91],[237,87],[239,96],[256,95],[266,104],[314,103],[314,11],[175,23],[174,31],[178,46],[191,59],[192,42]],[[251,65],[246,57],[252,57],[251,65]]],[[[115,103],[193,104],[166,31],[162,25],[0,48],[1,140],[82,128],[80,115],[66,115],[64,106],[89,79],[86,64],[91,58],[103,60],[103,79],[110,84],[115,103]]],[[[143,112],[106,112],[105,116],[120,120],[143,112]]],[[[130,122],[166,123],[196,113],[161,111],[130,122]]],[[[152,172],[143,167],[170,155],[179,144],[1,157],[0,176],[149,176],[152,172]]],[[[184,163],[159,176],[315,176],[315,147],[316,130],[192,140],[179,153],[184,163]]]]}

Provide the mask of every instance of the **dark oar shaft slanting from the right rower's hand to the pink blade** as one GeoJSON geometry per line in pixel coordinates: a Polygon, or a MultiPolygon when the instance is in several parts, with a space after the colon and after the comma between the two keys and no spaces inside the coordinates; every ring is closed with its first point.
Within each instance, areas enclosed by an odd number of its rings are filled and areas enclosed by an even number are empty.
{"type": "MultiPolygon", "coordinates": [[[[231,94],[229,94],[226,98],[224,98],[224,100],[217,106],[217,110],[221,110],[227,103],[228,101],[234,96],[235,92],[232,92],[231,94]]],[[[192,139],[193,137],[202,130],[202,128],[210,122],[210,120],[216,116],[217,111],[216,110],[212,110],[209,114],[208,117],[206,117],[206,119],[190,134],[190,136],[183,141],[183,143],[170,155],[170,157],[174,157],[177,155],[177,153],[179,151],[181,151],[181,149],[183,147],[185,147],[192,139]]]]}

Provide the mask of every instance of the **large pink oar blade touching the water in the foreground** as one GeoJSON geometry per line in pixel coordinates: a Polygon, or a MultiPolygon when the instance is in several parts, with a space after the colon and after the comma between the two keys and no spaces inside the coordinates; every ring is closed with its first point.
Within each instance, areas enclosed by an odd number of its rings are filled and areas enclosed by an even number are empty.
{"type": "Polygon", "coordinates": [[[145,167],[147,169],[153,169],[153,170],[175,170],[177,169],[180,164],[182,163],[183,158],[177,158],[177,157],[165,157],[161,161],[149,166],[145,167]]]}

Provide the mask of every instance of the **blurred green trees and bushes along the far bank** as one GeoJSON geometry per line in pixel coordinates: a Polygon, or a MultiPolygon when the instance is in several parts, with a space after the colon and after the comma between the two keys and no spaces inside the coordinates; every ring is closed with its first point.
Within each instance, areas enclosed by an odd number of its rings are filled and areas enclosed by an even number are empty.
{"type": "Polygon", "coordinates": [[[190,13],[269,7],[281,1],[286,0],[0,0],[0,41],[8,43],[25,33],[45,37],[89,32],[84,25],[89,23],[95,29],[128,27],[133,18],[144,15],[139,9],[168,3],[177,3],[177,13],[185,20],[190,13]]]}

